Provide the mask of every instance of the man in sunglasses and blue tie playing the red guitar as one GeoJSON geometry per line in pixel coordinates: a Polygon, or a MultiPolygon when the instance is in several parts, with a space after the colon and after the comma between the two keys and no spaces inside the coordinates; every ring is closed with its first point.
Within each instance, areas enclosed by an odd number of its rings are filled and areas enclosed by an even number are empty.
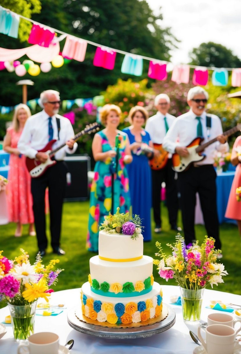
{"type": "Polygon", "coordinates": [[[44,163],[48,159],[46,152],[40,152],[52,139],[56,142],[53,149],[66,146],[55,153],[52,160],[55,165],[50,166],[41,176],[32,178],[31,192],[33,194],[34,223],[39,251],[42,256],[46,253],[46,220],[45,220],[45,190],[48,187],[51,246],[53,252],[64,255],[60,248],[62,205],[66,187],[66,172],[64,156],[73,154],[77,143],[72,139],[74,130],[69,119],[58,115],[60,107],[59,92],[54,90],[43,91],[40,95],[40,106],[43,110],[31,116],[23,129],[18,142],[19,151],[30,159],[37,159],[44,163]]]}

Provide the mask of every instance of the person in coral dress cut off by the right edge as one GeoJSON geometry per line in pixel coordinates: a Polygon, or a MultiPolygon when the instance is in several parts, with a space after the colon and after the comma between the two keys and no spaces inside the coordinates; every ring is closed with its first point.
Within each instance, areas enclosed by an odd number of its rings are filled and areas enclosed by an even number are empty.
{"type": "Polygon", "coordinates": [[[241,235],[241,205],[240,202],[236,200],[236,188],[241,187],[241,136],[238,136],[234,142],[231,163],[237,167],[229,194],[225,217],[237,220],[239,233],[241,235]]]}

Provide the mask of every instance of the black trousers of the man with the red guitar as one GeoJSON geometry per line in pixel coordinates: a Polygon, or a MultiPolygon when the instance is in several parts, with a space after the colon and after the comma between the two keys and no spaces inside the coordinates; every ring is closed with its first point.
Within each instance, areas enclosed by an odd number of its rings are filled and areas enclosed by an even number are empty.
{"type": "Polygon", "coordinates": [[[64,161],[57,161],[45,173],[31,180],[33,194],[34,223],[40,250],[47,248],[45,219],[45,190],[48,187],[51,246],[59,247],[62,206],[66,188],[67,167],[64,161]]]}

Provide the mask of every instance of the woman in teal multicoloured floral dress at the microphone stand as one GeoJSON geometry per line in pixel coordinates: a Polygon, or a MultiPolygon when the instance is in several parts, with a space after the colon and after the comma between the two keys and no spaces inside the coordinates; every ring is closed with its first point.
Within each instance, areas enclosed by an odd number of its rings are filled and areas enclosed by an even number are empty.
{"type": "Polygon", "coordinates": [[[100,111],[100,120],[105,129],[95,134],[92,143],[96,164],[90,190],[87,235],[89,251],[98,251],[99,225],[104,222],[104,216],[109,212],[116,213],[117,207],[120,207],[120,213],[130,211],[129,179],[125,164],[132,161],[132,156],[128,136],[117,130],[120,115],[118,106],[104,105],[100,111]]]}

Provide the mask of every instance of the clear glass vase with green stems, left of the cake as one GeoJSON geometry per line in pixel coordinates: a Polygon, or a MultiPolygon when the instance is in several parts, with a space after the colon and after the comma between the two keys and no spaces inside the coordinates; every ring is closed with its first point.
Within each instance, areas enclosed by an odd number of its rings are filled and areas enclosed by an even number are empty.
{"type": "Polygon", "coordinates": [[[28,305],[13,305],[8,303],[13,327],[14,339],[17,341],[27,339],[34,333],[34,318],[36,301],[28,305]]]}

